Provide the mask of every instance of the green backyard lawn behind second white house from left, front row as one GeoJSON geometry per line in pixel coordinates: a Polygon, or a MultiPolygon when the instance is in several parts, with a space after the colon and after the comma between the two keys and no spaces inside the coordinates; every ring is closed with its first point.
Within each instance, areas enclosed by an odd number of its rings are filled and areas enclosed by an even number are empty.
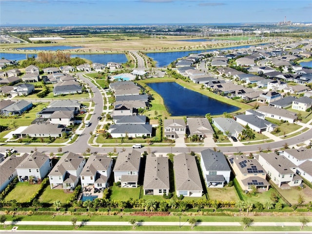
{"type": "Polygon", "coordinates": [[[73,193],[64,193],[62,189],[51,189],[48,185],[43,193],[39,197],[39,201],[43,203],[53,203],[55,200],[60,200],[61,203],[65,203],[68,198],[70,198],[73,193]]]}

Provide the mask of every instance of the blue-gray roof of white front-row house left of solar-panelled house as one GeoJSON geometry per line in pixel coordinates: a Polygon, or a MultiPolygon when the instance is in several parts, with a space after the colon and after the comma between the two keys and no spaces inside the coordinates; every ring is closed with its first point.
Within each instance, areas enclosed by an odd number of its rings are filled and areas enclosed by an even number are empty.
{"type": "Polygon", "coordinates": [[[231,168],[222,152],[206,149],[200,152],[206,171],[231,171],[231,168]]]}

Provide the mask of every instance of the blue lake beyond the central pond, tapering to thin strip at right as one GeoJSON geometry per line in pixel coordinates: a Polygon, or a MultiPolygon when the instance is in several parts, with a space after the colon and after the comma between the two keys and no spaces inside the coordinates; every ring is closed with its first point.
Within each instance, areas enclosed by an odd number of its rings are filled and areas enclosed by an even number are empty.
{"type": "MultiPolygon", "coordinates": [[[[249,48],[249,47],[250,45],[242,45],[242,46],[223,48],[220,50],[233,50],[233,49],[249,48]]],[[[215,51],[215,50],[219,50],[219,49],[146,53],[146,55],[156,61],[156,67],[165,67],[165,66],[168,66],[173,61],[176,61],[176,59],[189,56],[190,54],[199,54],[199,53],[210,52],[210,51],[215,51]]]]}

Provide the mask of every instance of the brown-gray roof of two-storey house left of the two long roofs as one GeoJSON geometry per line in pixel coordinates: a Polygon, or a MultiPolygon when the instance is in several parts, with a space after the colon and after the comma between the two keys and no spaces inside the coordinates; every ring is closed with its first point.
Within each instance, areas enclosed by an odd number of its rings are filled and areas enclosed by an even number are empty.
{"type": "Polygon", "coordinates": [[[114,172],[138,172],[141,162],[141,153],[137,150],[132,150],[132,153],[120,153],[117,157],[114,172]]]}

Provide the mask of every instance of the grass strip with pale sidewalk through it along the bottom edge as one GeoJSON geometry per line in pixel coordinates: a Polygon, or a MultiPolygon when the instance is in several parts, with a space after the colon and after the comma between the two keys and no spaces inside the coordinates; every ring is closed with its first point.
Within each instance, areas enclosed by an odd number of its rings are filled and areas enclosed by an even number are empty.
{"type": "MultiPolygon", "coordinates": [[[[110,231],[242,231],[242,219],[237,216],[203,216],[194,213],[174,213],[163,216],[147,215],[6,215],[5,230],[18,227],[18,230],[110,230],[110,231]],[[31,221],[30,221],[31,220],[31,221]],[[36,220],[36,221],[34,221],[36,220]],[[53,220],[53,221],[52,221],[53,220]],[[102,221],[105,220],[105,221],[102,221]],[[190,220],[195,220],[193,223],[190,220]]],[[[220,214],[222,215],[222,214],[220,214]]],[[[223,214],[225,215],[225,214],[223,214]]],[[[228,214],[229,215],[229,214],[228,214]]],[[[302,216],[253,216],[248,215],[252,223],[248,231],[299,231],[302,216]],[[270,220],[270,222],[266,222],[270,220]]],[[[312,231],[312,223],[305,223],[303,231],[312,231]]]]}

